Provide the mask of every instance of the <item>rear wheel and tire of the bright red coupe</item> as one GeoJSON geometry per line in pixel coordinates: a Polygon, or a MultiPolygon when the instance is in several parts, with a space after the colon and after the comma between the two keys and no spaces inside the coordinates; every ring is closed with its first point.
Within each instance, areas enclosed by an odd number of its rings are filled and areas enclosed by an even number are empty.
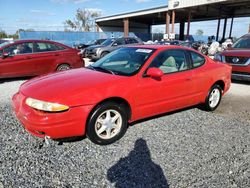
{"type": "Polygon", "coordinates": [[[220,104],[222,97],[222,89],[219,85],[213,85],[208,92],[204,104],[205,110],[214,111],[220,104]]]}

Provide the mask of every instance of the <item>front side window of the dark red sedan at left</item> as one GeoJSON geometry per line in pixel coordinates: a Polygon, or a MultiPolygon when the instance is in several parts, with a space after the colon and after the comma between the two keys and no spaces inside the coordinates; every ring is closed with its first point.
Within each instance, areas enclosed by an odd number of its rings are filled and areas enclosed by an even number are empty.
{"type": "Polygon", "coordinates": [[[32,42],[24,42],[8,46],[4,48],[4,52],[10,55],[18,55],[18,54],[32,53],[32,49],[33,49],[32,42]]]}

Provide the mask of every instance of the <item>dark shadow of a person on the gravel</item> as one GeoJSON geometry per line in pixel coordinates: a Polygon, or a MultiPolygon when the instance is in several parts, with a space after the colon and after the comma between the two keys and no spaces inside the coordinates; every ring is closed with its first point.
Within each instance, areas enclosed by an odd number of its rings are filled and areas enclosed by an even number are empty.
{"type": "Polygon", "coordinates": [[[108,170],[107,178],[117,188],[169,187],[163,170],[152,161],[144,139],[138,139],[129,155],[108,170]]]}

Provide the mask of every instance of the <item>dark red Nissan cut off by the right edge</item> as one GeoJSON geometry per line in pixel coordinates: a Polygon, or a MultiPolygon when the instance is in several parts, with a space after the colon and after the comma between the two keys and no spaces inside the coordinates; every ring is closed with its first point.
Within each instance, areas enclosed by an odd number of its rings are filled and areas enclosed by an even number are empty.
{"type": "Polygon", "coordinates": [[[250,34],[239,38],[229,50],[216,54],[214,59],[232,66],[232,78],[250,81],[250,34]]]}

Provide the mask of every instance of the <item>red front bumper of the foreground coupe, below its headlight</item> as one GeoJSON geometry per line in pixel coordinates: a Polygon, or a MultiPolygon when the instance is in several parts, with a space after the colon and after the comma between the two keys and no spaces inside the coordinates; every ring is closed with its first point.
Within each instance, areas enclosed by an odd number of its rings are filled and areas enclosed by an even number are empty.
{"type": "Polygon", "coordinates": [[[17,119],[31,134],[52,139],[82,136],[92,105],[72,107],[60,113],[46,113],[30,108],[25,104],[26,97],[17,93],[12,98],[17,119]]]}

